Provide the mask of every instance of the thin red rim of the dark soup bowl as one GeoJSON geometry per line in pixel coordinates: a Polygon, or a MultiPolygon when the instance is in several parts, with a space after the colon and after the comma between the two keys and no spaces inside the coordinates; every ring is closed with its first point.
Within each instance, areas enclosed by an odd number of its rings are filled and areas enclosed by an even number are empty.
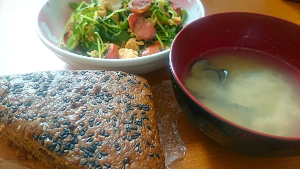
{"type": "Polygon", "coordinates": [[[218,15],[227,15],[227,14],[235,14],[235,15],[239,15],[239,14],[247,14],[247,15],[252,15],[252,16],[258,16],[258,17],[265,17],[265,18],[272,18],[272,19],[276,19],[278,21],[281,22],[286,22],[287,24],[290,25],[297,25],[300,27],[299,24],[297,23],[293,23],[291,21],[288,21],[286,19],[282,19],[279,17],[274,17],[271,15],[266,15],[266,14],[261,14],[261,13],[251,13],[251,12],[222,12],[222,13],[216,13],[216,14],[211,14],[211,15],[207,15],[204,16],[202,18],[198,18],[194,21],[192,21],[191,23],[188,23],[185,27],[183,27],[183,29],[177,34],[177,36],[174,38],[171,46],[170,46],[170,53],[169,53],[169,65],[170,65],[170,70],[171,70],[171,74],[173,75],[176,83],[178,83],[179,87],[181,88],[181,90],[199,107],[201,107],[202,109],[204,109],[206,112],[210,113],[211,115],[217,117],[219,120],[222,120],[224,122],[229,123],[230,125],[237,127],[239,129],[242,129],[244,131],[259,135],[259,136],[264,136],[264,137],[269,137],[269,138],[273,138],[273,139],[277,139],[277,140],[287,140],[287,141],[300,141],[300,136],[298,137],[288,137],[288,136],[276,136],[276,135],[271,135],[271,134],[267,134],[267,133],[262,133],[259,131],[255,131],[252,129],[249,129],[247,127],[243,127],[241,125],[238,125],[230,120],[225,119],[224,117],[222,117],[221,115],[218,115],[217,113],[213,112],[212,110],[208,109],[205,105],[203,105],[200,101],[198,101],[183,85],[183,83],[181,82],[181,80],[179,79],[178,74],[176,74],[176,72],[174,71],[174,65],[172,63],[172,49],[173,49],[173,45],[174,43],[178,43],[176,42],[176,40],[178,39],[178,37],[180,36],[180,34],[182,32],[184,32],[187,28],[191,27],[193,24],[197,23],[197,22],[201,22],[204,19],[210,18],[210,17],[214,17],[214,16],[218,16],[218,15]]]}

